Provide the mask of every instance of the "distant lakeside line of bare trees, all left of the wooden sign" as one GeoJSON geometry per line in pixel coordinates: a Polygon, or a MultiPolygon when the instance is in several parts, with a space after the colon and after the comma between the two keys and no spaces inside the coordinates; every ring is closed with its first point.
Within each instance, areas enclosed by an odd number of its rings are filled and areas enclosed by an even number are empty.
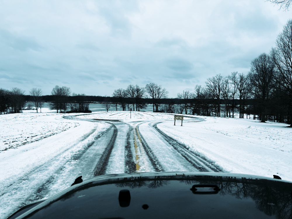
{"type": "MultiPolygon", "coordinates": [[[[153,105],[153,112],[161,111],[161,104],[165,103],[168,91],[161,85],[154,83],[146,84],[145,87],[138,85],[129,85],[126,89],[115,89],[111,97],[105,96],[87,96],[85,94],[72,93],[71,88],[66,86],[55,86],[51,95],[42,96],[42,90],[32,88],[30,95],[25,95],[25,91],[20,88],[13,88],[11,91],[0,88],[0,113],[19,113],[26,109],[26,102],[33,103],[36,112],[41,110],[44,102],[49,102],[50,109],[57,113],[70,112],[91,112],[89,110],[90,102],[101,102],[105,109],[121,107],[122,110],[140,111],[146,109],[147,103],[153,105]]],[[[27,108],[27,109],[30,109],[27,108]]]]}

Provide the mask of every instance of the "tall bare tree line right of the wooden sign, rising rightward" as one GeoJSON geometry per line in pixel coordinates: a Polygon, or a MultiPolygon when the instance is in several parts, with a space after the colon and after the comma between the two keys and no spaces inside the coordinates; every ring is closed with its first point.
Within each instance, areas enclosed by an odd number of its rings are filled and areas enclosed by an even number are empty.
{"type": "Polygon", "coordinates": [[[253,119],[261,122],[291,124],[292,20],[287,21],[270,53],[262,53],[251,61],[248,74],[232,72],[227,77],[217,74],[208,78],[204,87],[196,85],[194,93],[183,91],[178,97],[184,100],[180,109],[186,114],[189,108],[192,114],[234,117],[237,109],[239,118],[252,114],[253,119]]]}

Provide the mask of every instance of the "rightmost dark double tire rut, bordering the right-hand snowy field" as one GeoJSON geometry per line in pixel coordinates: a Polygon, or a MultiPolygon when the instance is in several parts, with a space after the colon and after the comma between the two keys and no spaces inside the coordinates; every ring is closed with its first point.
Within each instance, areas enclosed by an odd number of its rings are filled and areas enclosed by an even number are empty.
{"type": "MultiPolygon", "coordinates": [[[[166,135],[164,132],[162,132],[158,127],[157,124],[162,122],[157,122],[152,125],[152,127],[158,131],[178,153],[180,153],[192,166],[197,168],[201,172],[223,172],[218,166],[215,166],[214,164],[211,164],[209,161],[207,161],[204,157],[201,157],[196,152],[190,151],[186,145],[178,142],[174,138],[171,138],[170,136],[166,135]]],[[[151,126],[151,124],[149,124],[151,126]]]]}

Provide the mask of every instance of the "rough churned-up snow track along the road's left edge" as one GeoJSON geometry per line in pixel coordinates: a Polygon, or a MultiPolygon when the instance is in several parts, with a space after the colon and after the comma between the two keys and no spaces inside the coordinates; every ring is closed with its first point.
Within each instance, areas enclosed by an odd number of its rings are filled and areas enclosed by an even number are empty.
{"type": "Polygon", "coordinates": [[[82,141],[79,141],[78,143],[67,148],[66,150],[58,153],[49,162],[46,162],[34,168],[33,171],[30,171],[29,174],[25,175],[26,178],[21,177],[18,182],[11,184],[0,197],[0,203],[3,203],[1,207],[9,209],[8,212],[10,211],[12,213],[16,211],[17,208],[21,208],[25,204],[28,204],[28,202],[37,201],[44,198],[46,194],[48,194],[48,192],[50,191],[51,187],[54,186],[54,184],[52,184],[51,182],[54,181],[55,177],[58,178],[58,173],[60,173],[65,168],[68,161],[70,162],[71,158],[78,159],[78,157],[81,157],[81,151],[85,153],[88,148],[90,148],[94,144],[94,141],[96,139],[100,138],[109,130],[109,128],[107,128],[107,130],[103,131],[102,133],[94,133],[96,129],[97,127],[94,128],[90,133],[84,135],[84,137],[81,138],[82,141]],[[70,150],[72,150],[72,152],[70,152],[70,150]],[[12,191],[14,198],[10,200],[18,203],[18,205],[14,207],[10,206],[8,202],[5,202],[7,196],[12,191]],[[25,196],[23,195],[24,191],[25,196]]]}

